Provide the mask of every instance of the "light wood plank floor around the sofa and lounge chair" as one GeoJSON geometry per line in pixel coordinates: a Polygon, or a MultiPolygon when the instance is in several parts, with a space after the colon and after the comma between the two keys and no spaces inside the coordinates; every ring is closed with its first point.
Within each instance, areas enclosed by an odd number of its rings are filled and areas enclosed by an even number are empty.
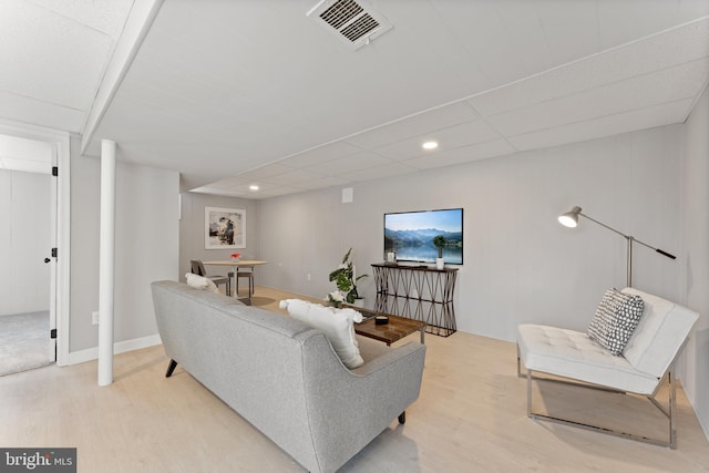
{"type": "MultiPolygon", "coordinates": [[[[275,308],[288,297],[257,287],[254,305],[275,308]]],[[[394,420],[342,472],[709,471],[709,444],[681,390],[678,449],[669,450],[527,419],[513,343],[458,332],[427,335],[427,348],[407,423],[394,420]]],[[[166,379],[167,361],[162,347],[119,354],[105,388],[96,362],[1,378],[0,448],[75,446],[79,472],[304,471],[181,368],[166,379]]],[[[542,384],[535,407],[664,433],[649,402],[587,391],[542,384]]]]}

